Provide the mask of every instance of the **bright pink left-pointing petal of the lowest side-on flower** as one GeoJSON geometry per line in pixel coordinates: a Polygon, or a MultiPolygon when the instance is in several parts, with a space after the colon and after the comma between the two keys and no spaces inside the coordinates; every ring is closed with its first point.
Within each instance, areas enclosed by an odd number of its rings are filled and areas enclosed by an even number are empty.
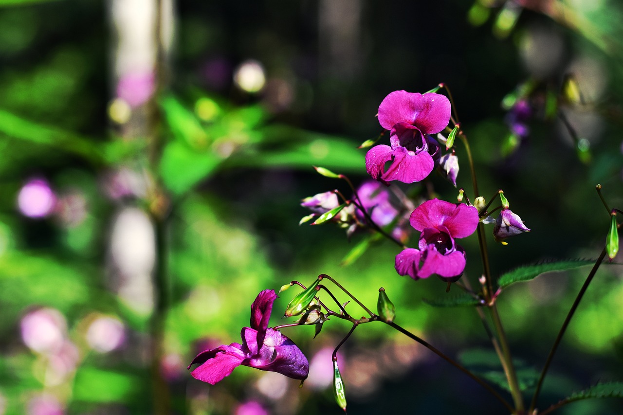
{"type": "Polygon", "coordinates": [[[195,363],[201,363],[191,372],[193,378],[216,384],[240,366],[244,358],[245,355],[240,350],[240,345],[232,343],[229,346],[222,345],[216,349],[202,351],[188,365],[188,368],[190,369],[195,363]]]}

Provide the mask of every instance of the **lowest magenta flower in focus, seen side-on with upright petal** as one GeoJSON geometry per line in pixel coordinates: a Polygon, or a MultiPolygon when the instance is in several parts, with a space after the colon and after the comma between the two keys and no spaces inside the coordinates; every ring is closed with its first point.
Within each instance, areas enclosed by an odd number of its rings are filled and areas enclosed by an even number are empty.
{"type": "Polygon", "coordinates": [[[307,358],[292,340],[278,330],[268,328],[270,312],[277,294],[264,290],[251,305],[251,327],[242,328],[242,345],[232,343],[212,350],[204,350],[188,365],[195,363],[193,378],[216,384],[234,371],[237,366],[250,366],[285,374],[293,379],[305,379],[309,373],[307,358]]]}

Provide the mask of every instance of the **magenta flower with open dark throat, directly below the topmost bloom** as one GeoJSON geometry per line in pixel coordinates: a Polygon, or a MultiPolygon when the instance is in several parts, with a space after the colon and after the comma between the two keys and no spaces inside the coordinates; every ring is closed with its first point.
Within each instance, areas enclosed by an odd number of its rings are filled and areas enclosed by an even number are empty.
{"type": "Polygon", "coordinates": [[[476,230],[476,208],[432,199],[418,206],[409,222],[422,235],[419,249],[408,248],[396,255],[398,274],[415,280],[432,274],[444,281],[458,280],[465,269],[465,251],[454,240],[470,236],[476,230]]]}

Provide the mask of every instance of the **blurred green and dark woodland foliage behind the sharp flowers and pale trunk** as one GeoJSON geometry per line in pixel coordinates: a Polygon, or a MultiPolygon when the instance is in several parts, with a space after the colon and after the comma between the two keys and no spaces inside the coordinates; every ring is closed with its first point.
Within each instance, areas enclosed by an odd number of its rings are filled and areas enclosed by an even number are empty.
{"type": "MultiPolygon", "coordinates": [[[[350,192],[343,181],[316,174],[313,165],[356,183],[366,178],[365,150],[356,147],[378,135],[374,115],[387,93],[423,92],[445,82],[472,144],[483,195],[503,188],[532,229],[506,247],[490,240],[493,274],[541,260],[597,257],[609,216],[594,186],[602,184],[611,207],[623,203],[623,9],[615,1],[553,2],[559,7],[553,10],[577,17],[565,19],[537,6],[513,14],[518,9],[508,11],[511,3],[352,1],[359,8],[350,22],[356,36],[349,37],[326,26],[321,9],[328,1],[178,2],[174,76],[150,103],[159,114],[161,140],[154,162],[153,131],[126,136],[123,123],[107,118],[115,98],[109,62],[114,36],[101,2],[0,2],[0,413],[26,413],[40,396],[54,396],[66,413],[153,413],[150,310],[121,298],[113,277],[113,224],[127,207],[148,212],[152,221],[154,212],[168,215],[166,255],[159,258],[169,277],[161,370],[172,413],[232,413],[250,399],[275,413],[340,413],[326,387],[299,390],[290,382],[283,386],[287,393],[275,398],[262,389],[264,372],[240,368],[209,387],[185,368],[207,346],[240,341],[257,292],[292,280],[307,285],[321,273],[368,307],[384,287],[396,305],[396,321],[450,355],[465,345],[487,348],[472,309],[422,301],[444,295],[445,284],[396,275],[397,249],[387,242],[363,234],[346,241],[343,230],[330,224],[298,226],[307,214],[299,203],[336,187],[350,192]],[[409,16],[418,17],[406,24],[402,19],[409,16]],[[526,46],[543,31],[562,45],[549,72],[534,69],[528,55],[536,46],[526,46]],[[356,54],[335,57],[332,47],[356,54]],[[245,93],[232,81],[234,67],[250,58],[264,65],[262,93],[245,93]],[[573,66],[578,62],[590,63],[578,77],[586,105],[559,93],[564,75],[583,68],[573,66]],[[217,77],[214,68],[224,75],[217,77]],[[535,107],[530,135],[510,143],[501,103],[509,93],[521,95],[526,84],[533,85],[535,107]],[[574,141],[551,117],[552,99],[573,121],[587,113],[596,118],[577,127],[587,141],[574,141]],[[114,178],[127,171],[131,183],[123,186],[131,189],[115,196],[114,178]],[[17,206],[33,178],[47,180],[57,198],[47,217],[24,216],[17,206]],[[24,317],[46,308],[65,319],[70,346],[64,343],[62,357],[32,350],[22,338],[24,317]],[[88,340],[100,313],[125,327],[124,343],[106,353],[88,340]]],[[[549,56],[547,50],[535,54],[549,56]]],[[[457,155],[466,160],[460,145],[457,155]]],[[[469,193],[470,173],[461,163],[459,186],[469,193]]],[[[414,188],[416,194],[434,189],[440,198],[456,197],[437,176],[426,188],[414,188]]],[[[464,278],[475,285],[482,267],[477,241],[462,245],[468,252],[464,278]]],[[[515,284],[500,297],[511,349],[526,363],[528,389],[586,277],[586,269],[571,268],[515,284]]],[[[275,302],[270,325],[285,322],[280,313],[295,294],[290,289],[275,302]]],[[[135,295],[138,302],[141,295],[135,295]]],[[[620,267],[603,267],[569,327],[541,401],[556,402],[620,376],[622,298],[620,267]]],[[[347,330],[331,321],[315,340],[312,328],[283,331],[311,360],[334,348],[347,330]]],[[[341,368],[349,412],[500,411],[470,379],[384,325],[358,329],[342,351],[352,362],[341,368]]],[[[477,358],[488,351],[478,353],[472,363],[486,369],[490,360],[477,358]]],[[[559,413],[615,414],[621,404],[586,402],[559,413]]]]}

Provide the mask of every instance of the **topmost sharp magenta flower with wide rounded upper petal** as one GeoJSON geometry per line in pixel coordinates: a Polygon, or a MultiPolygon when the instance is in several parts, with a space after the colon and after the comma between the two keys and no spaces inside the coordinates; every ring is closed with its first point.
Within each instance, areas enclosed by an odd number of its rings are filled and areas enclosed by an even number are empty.
{"type": "Polygon", "coordinates": [[[439,158],[439,144],[429,134],[450,121],[450,101],[438,93],[394,91],[379,106],[379,123],[390,131],[388,145],[366,153],[366,171],[377,180],[413,183],[426,178],[439,158]],[[385,163],[391,161],[385,171],[385,163]]]}

